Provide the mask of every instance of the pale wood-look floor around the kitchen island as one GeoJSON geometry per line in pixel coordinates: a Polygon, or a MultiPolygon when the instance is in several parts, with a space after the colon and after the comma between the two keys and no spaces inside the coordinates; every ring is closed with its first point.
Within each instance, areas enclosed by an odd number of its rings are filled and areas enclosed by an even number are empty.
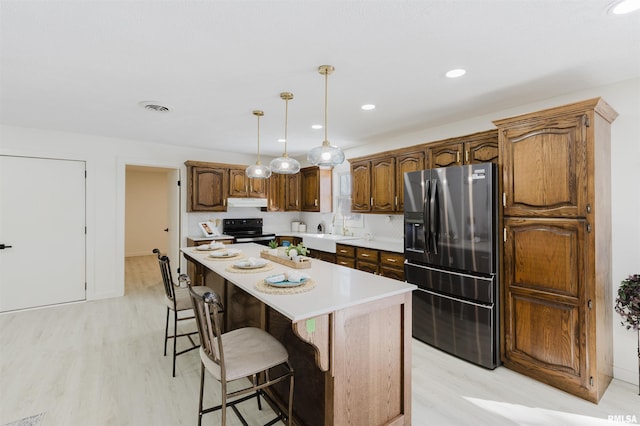
{"type": "MultiPolygon", "coordinates": [[[[163,357],[165,310],[153,256],[128,258],[125,297],[0,315],[0,425],[45,413],[43,425],[194,425],[197,351],[163,357]]],[[[185,325],[187,326],[187,325],[185,325]]],[[[414,425],[640,423],[636,386],[614,380],[595,405],[525,376],[460,361],[413,341],[414,425]]],[[[207,382],[205,404],[217,401],[207,382]]],[[[255,401],[250,424],[270,420],[255,401]]],[[[217,413],[205,424],[219,424],[217,413]]],[[[231,424],[239,424],[229,410],[231,424]]],[[[368,426],[368,425],[363,425],[368,426]]]]}

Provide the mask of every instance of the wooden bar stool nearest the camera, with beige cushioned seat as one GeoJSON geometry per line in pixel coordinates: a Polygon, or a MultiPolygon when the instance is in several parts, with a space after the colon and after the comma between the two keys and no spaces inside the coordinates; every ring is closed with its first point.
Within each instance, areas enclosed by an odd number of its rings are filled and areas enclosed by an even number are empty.
{"type": "Polygon", "coordinates": [[[278,410],[278,416],[271,422],[278,420],[291,425],[293,407],[293,368],[289,364],[289,354],[285,347],[272,335],[256,327],[245,327],[221,333],[220,313],[223,310],[218,295],[205,286],[189,286],[193,309],[200,333],[200,403],[198,406],[198,425],[202,422],[202,415],[222,410],[222,422],[226,425],[227,406],[236,413],[242,424],[246,421],[236,408],[236,404],[256,397],[258,409],[262,409],[260,396],[268,396],[263,389],[289,379],[289,404],[286,413],[278,410]],[[205,369],[221,384],[222,402],[215,407],[202,408],[204,393],[205,369]],[[271,376],[277,375],[272,378],[271,376]],[[234,380],[249,378],[250,386],[238,391],[228,392],[227,384],[234,380]],[[235,399],[237,397],[243,397],[235,399]],[[232,400],[233,399],[233,400],[232,400]]]}

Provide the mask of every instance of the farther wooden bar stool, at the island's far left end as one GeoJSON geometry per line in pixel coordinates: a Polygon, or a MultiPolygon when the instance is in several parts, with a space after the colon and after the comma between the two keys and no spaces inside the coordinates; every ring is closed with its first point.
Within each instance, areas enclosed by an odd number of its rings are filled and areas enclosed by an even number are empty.
{"type": "Polygon", "coordinates": [[[173,377],[176,377],[176,357],[183,353],[197,349],[198,345],[191,338],[198,331],[189,331],[186,333],[178,334],[178,321],[192,320],[195,316],[191,313],[192,305],[189,297],[189,289],[176,286],[173,281],[173,275],[171,274],[171,265],[169,264],[169,258],[162,256],[160,250],[153,249],[153,252],[158,255],[158,264],[160,265],[160,273],[162,274],[162,282],[164,283],[165,292],[165,304],[167,306],[167,320],[164,328],[164,356],[167,356],[167,340],[173,339],[173,377]],[[169,312],[173,312],[173,335],[169,336],[169,312]],[[180,312],[188,312],[187,316],[180,316],[180,312]],[[187,349],[176,352],[176,340],[178,337],[187,337],[191,342],[191,346],[187,349]]]}

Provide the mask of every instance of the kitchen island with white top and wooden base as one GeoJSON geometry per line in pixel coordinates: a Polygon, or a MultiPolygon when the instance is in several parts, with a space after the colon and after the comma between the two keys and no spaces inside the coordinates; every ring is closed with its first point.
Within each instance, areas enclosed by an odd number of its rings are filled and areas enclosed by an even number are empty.
{"type": "MultiPolygon", "coordinates": [[[[234,244],[245,257],[263,246],[234,244]]],[[[196,285],[225,302],[225,327],[258,326],[279,339],[295,369],[294,421],[304,425],[411,424],[411,291],[414,285],[313,259],[313,288],[270,294],[256,288],[290,268],[231,271],[234,259],[183,248],[196,285]]],[[[286,390],[275,389],[276,400],[286,390]]]]}

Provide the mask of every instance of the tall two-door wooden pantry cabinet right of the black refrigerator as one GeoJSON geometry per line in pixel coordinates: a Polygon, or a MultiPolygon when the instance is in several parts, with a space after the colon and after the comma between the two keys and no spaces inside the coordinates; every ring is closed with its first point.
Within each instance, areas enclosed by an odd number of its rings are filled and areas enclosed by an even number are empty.
{"type": "Polygon", "coordinates": [[[598,402],[613,377],[610,126],[596,98],[494,121],[506,367],[598,402]]]}

